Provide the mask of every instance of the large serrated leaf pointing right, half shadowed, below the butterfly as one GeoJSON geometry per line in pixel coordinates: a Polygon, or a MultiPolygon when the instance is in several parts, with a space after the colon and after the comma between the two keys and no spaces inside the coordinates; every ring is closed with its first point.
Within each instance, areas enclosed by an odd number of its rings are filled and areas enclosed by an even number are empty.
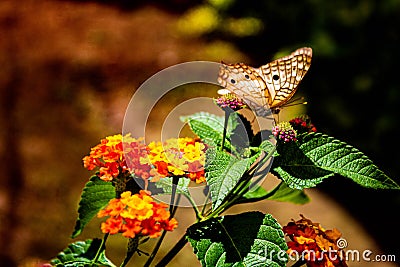
{"type": "Polygon", "coordinates": [[[322,133],[298,136],[295,143],[278,146],[273,168],[290,187],[314,186],[322,179],[339,174],[375,189],[400,189],[358,149],[322,133]]]}

